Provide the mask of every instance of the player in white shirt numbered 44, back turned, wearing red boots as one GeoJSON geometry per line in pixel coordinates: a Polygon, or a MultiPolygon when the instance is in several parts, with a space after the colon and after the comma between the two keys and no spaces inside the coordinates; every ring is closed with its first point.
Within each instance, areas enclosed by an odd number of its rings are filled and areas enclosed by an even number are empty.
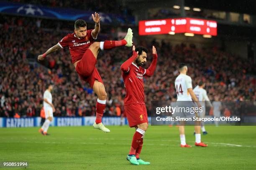
{"type": "MultiPolygon", "coordinates": [[[[187,65],[184,63],[181,63],[179,65],[179,76],[175,79],[175,88],[177,92],[177,105],[179,107],[201,107],[200,103],[197,100],[197,97],[195,96],[195,93],[192,89],[192,80],[191,77],[187,75],[187,65]],[[197,103],[197,106],[195,106],[195,103],[197,103]],[[183,102],[179,102],[183,101],[183,102]]],[[[175,114],[175,113],[174,113],[175,114]]],[[[184,117],[191,117],[195,116],[192,115],[190,112],[183,112],[183,113],[177,113],[179,115],[175,116],[184,116],[184,117]]],[[[179,125],[179,135],[180,135],[180,142],[181,147],[191,147],[191,145],[187,145],[186,139],[185,139],[185,121],[180,121],[179,125]]],[[[207,145],[201,142],[201,134],[200,134],[200,122],[195,122],[195,146],[202,146],[206,147],[207,145]]]]}

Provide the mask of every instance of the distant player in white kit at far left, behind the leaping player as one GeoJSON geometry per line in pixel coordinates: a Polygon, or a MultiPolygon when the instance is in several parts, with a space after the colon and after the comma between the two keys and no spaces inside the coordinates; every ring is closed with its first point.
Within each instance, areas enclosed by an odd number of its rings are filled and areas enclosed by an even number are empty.
{"type": "Polygon", "coordinates": [[[51,90],[53,85],[49,85],[48,88],[44,91],[44,112],[45,112],[45,121],[43,126],[39,129],[39,133],[42,135],[49,135],[47,130],[53,118],[53,112],[55,112],[54,105],[52,104],[51,90]]]}

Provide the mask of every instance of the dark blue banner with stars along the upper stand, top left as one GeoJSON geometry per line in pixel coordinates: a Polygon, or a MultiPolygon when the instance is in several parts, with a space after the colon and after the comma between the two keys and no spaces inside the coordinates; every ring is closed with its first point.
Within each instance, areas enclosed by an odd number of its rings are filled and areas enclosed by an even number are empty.
{"type": "MultiPolygon", "coordinates": [[[[87,22],[93,22],[92,13],[94,12],[60,7],[45,7],[41,5],[0,2],[0,13],[59,20],[83,19],[87,22]]],[[[106,14],[100,12],[99,14],[101,16],[101,23],[135,25],[134,17],[123,17],[122,15],[106,14]]]]}

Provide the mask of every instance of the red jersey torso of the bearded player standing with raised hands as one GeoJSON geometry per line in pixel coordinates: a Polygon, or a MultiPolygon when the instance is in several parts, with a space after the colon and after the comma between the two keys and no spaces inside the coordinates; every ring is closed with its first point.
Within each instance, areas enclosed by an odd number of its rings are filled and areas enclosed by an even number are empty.
{"type": "Polygon", "coordinates": [[[128,72],[122,72],[123,82],[126,89],[124,105],[143,104],[144,102],[144,82],[143,75],[146,69],[138,67],[132,63],[128,72]]]}

